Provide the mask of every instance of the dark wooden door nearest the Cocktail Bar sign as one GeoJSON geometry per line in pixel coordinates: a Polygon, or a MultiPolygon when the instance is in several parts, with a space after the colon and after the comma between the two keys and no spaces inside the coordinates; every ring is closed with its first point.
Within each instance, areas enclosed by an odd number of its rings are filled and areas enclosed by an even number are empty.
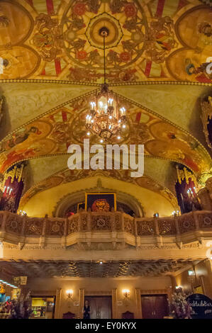
{"type": "Polygon", "coordinates": [[[168,315],[167,295],[141,296],[143,319],[162,319],[168,315]]]}

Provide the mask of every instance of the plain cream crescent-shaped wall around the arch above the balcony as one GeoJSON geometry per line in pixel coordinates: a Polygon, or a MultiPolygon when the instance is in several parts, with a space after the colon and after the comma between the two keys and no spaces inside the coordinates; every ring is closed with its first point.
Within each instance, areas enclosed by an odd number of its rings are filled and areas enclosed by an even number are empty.
{"type": "Polygon", "coordinates": [[[26,211],[28,216],[43,218],[45,214],[52,216],[52,211],[55,210],[57,203],[67,194],[76,191],[89,191],[94,188],[97,179],[101,179],[103,188],[110,188],[111,191],[122,191],[135,197],[138,202],[143,206],[145,216],[152,218],[154,213],[159,213],[160,216],[170,216],[175,209],[173,205],[164,196],[158,193],[141,188],[134,184],[128,183],[127,186],[124,181],[106,177],[91,177],[88,179],[80,179],[72,183],[62,184],[47,191],[35,194],[23,210],[26,211]]]}

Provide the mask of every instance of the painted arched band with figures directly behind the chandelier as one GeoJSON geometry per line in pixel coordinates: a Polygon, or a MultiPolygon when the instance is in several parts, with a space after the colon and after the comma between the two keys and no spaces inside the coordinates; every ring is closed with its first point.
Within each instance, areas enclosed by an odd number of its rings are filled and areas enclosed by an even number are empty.
{"type": "MultiPolygon", "coordinates": [[[[211,170],[211,157],[201,143],[188,132],[178,128],[153,111],[119,96],[127,110],[128,123],[122,139],[112,143],[145,145],[145,154],[169,159],[188,166],[195,174],[211,170]]],[[[23,125],[0,142],[0,172],[23,159],[67,154],[67,147],[83,145],[87,139],[85,128],[90,94],[52,109],[23,125]]],[[[89,136],[90,145],[99,137],[89,136]]]]}

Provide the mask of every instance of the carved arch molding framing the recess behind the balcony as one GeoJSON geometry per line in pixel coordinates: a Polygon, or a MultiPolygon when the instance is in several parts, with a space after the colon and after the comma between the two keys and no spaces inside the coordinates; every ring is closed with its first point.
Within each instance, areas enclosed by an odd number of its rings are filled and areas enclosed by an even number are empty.
{"type": "MultiPolygon", "coordinates": [[[[60,201],[57,201],[55,205],[55,209],[52,212],[52,216],[54,218],[62,218],[63,213],[69,208],[70,203],[72,205],[80,203],[84,201],[84,192],[85,191],[105,191],[105,192],[114,192],[111,188],[104,188],[101,186],[101,179],[97,180],[96,186],[92,188],[86,188],[83,191],[77,191],[74,193],[69,193],[66,196],[63,196],[60,201]]],[[[119,203],[125,203],[128,205],[134,212],[137,218],[144,218],[145,211],[143,206],[139,203],[139,201],[128,193],[118,191],[116,192],[116,198],[119,203]]]]}

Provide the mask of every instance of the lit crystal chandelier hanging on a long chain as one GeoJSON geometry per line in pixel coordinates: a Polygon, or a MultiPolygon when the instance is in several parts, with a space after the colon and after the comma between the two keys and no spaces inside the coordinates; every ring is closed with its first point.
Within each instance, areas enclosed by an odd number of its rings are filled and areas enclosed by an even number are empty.
{"type": "Polygon", "coordinates": [[[101,85],[101,91],[90,103],[90,111],[86,117],[87,136],[93,134],[99,135],[100,142],[109,141],[111,137],[121,140],[121,131],[126,128],[126,109],[121,106],[118,97],[113,91],[108,89],[106,83],[106,37],[109,35],[108,28],[99,30],[99,34],[104,40],[104,84],[101,85]]]}

